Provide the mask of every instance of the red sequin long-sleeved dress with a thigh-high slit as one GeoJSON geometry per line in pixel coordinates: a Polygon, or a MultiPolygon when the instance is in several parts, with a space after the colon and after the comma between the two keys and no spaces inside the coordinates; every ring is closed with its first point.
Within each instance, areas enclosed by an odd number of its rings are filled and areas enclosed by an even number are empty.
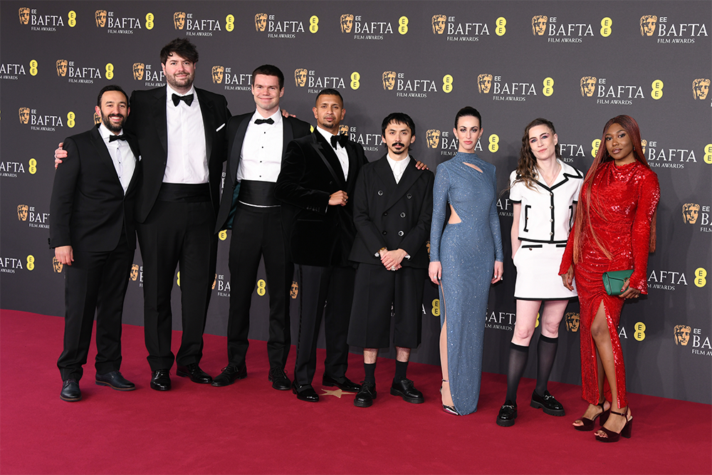
{"type": "MultiPolygon", "coordinates": [[[[586,205],[585,184],[578,206],[586,205]]],[[[613,345],[618,407],[628,405],[625,388],[625,367],[618,337],[618,323],[624,299],[609,296],[603,288],[602,276],[607,271],[632,268],[629,285],[648,293],[647,266],[650,246],[650,224],[660,199],[658,177],[640,162],[617,167],[613,161],[599,166],[591,189],[591,224],[601,244],[611,254],[607,258],[596,244],[590,229],[584,226],[579,262],[574,278],[581,307],[581,379],[583,398],[598,404],[597,364],[591,324],[603,301],[608,331],[613,345]]],[[[562,257],[559,273],[565,273],[573,263],[575,229],[572,229],[562,257]]]]}

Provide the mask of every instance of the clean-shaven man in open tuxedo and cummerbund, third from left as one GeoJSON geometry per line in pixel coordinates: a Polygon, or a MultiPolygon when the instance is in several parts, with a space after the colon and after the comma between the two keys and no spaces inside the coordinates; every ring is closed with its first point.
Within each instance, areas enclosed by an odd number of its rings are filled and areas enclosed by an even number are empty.
{"type": "Polygon", "coordinates": [[[268,380],[276,390],[288,390],[290,380],[284,366],[291,345],[289,291],[294,266],[286,256],[280,202],[274,196],[274,186],[287,144],[309,135],[310,125],[283,117],[279,100],[284,94],[284,75],[276,66],[266,64],[252,73],[252,94],[256,110],[236,115],[227,125],[229,159],[215,231],[232,229],[228,365],[213,380],[213,386],[231,385],[247,375],[250,305],[263,257],[270,307],[268,380]]]}

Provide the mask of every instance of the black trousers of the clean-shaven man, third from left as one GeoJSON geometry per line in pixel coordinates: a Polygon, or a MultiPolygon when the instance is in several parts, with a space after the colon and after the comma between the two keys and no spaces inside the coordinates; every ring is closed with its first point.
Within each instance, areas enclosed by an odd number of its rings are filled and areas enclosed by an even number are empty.
{"type": "Polygon", "coordinates": [[[258,208],[238,204],[230,240],[230,312],[227,355],[244,365],[250,330],[250,306],[260,260],[264,257],[269,295],[267,356],[271,368],[284,369],[289,355],[289,291],[294,273],[287,260],[279,207],[258,208]]]}

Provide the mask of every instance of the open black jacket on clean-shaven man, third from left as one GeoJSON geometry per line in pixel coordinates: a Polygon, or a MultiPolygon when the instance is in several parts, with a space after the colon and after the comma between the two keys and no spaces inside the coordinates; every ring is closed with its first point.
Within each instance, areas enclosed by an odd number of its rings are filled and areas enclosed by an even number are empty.
{"type": "MultiPolygon", "coordinates": [[[[242,145],[247,133],[247,127],[253,118],[254,112],[236,115],[227,123],[227,165],[225,169],[225,183],[220,199],[220,209],[216,219],[215,232],[228,229],[230,217],[237,204],[238,182],[236,182],[237,169],[240,166],[242,145]]],[[[282,118],[282,160],[287,150],[287,145],[295,138],[309,135],[311,125],[308,122],[293,117],[282,118]]]]}

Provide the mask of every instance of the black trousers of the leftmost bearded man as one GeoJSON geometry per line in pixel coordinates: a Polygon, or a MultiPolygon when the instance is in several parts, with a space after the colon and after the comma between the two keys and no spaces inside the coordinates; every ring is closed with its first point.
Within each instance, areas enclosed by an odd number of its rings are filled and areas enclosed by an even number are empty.
{"type": "Polygon", "coordinates": [[[64,350],[57,361],[62,380],[80,380],[87,362],[96,312],[96,372],[121,366],[121,315],[134,250],[125,232],[113,251],[73,250],[74,262],[64,266],[64,350]]]}

